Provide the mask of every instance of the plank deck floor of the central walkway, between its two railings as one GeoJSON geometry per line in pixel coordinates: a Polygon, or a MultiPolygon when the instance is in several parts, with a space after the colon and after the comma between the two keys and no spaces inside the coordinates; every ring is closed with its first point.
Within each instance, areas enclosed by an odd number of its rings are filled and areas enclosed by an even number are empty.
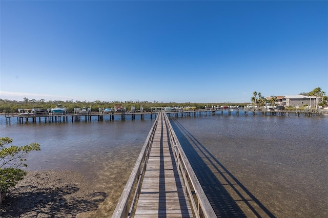
{"type": "Polygon", "coordinates": [[[163,116],[159,114],[134,217],[193,217],[163,116]]]}

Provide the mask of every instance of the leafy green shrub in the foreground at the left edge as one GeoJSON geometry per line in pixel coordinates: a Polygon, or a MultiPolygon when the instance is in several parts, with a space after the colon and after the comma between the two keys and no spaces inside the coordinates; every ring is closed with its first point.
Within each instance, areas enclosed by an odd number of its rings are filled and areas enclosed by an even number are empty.
{"type": "Polygon", "coordinates": [[[26,155],[32,150],[40,150],[38,143],[30,143],[25,146],[10,145],[11,138],[0,138],[0,192],[4,193],[14,187],[18,181],[23,180],[26,171],[19,169],[20,166],[27,166],[26,155]]]}

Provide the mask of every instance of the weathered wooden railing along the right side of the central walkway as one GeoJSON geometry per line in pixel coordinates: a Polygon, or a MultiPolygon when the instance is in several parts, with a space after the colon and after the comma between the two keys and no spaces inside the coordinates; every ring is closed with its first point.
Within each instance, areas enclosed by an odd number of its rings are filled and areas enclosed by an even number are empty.
{"type": "Polygon", "coordinates": [[[186,189],[185,191],[187,191],[189,200],[192,203],[192,207],[196,217],[216,217],[216,214],[208,198],[206,197],[206,194],[202,189],[185,152],[181,147],[177,136],[175,135],[168,116],[166,115],[166,113],[163,114],[165,115],[164,118],[169,127],[170,139],[174,147],[175,155],[177,157],[178,168],[180,168],[180,171],[183,176],[183,182],[185,183],[184,185],[186,189]],[[190,187],[190,184],[192,187],[190,187]],[[195,201],[194,197],[196,197],[197,201],[195,201]]]}

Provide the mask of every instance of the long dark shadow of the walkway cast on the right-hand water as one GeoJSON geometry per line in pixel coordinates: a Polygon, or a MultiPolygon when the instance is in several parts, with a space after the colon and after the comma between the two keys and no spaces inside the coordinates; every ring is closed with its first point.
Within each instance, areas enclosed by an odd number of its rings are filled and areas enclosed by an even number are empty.
{"type": "Polygon", "coordinates": [[[217,217],[247,217],[238,206],[237,201],[247,205],[256,217],[262,217],[263,214],[268,217],[275,217],[177,120],[172,119],[171,125],[217,217]],[[219,181],[215,174],[223,179],[224,184],[219,181]],[[234,190],[240,200],[234,200],[224,186],[229,186],[230,189],[234,190]],[[256,208],[261,209],[261,214],[256,208]]]}

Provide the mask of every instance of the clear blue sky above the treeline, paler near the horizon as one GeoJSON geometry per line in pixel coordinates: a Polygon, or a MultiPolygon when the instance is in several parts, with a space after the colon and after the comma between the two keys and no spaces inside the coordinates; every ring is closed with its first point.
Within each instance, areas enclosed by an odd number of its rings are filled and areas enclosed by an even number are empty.
{"type": "Polygon", "coordinates": [[[1,1],[0,98],[328,93],[327,1],[1,1]]]}

